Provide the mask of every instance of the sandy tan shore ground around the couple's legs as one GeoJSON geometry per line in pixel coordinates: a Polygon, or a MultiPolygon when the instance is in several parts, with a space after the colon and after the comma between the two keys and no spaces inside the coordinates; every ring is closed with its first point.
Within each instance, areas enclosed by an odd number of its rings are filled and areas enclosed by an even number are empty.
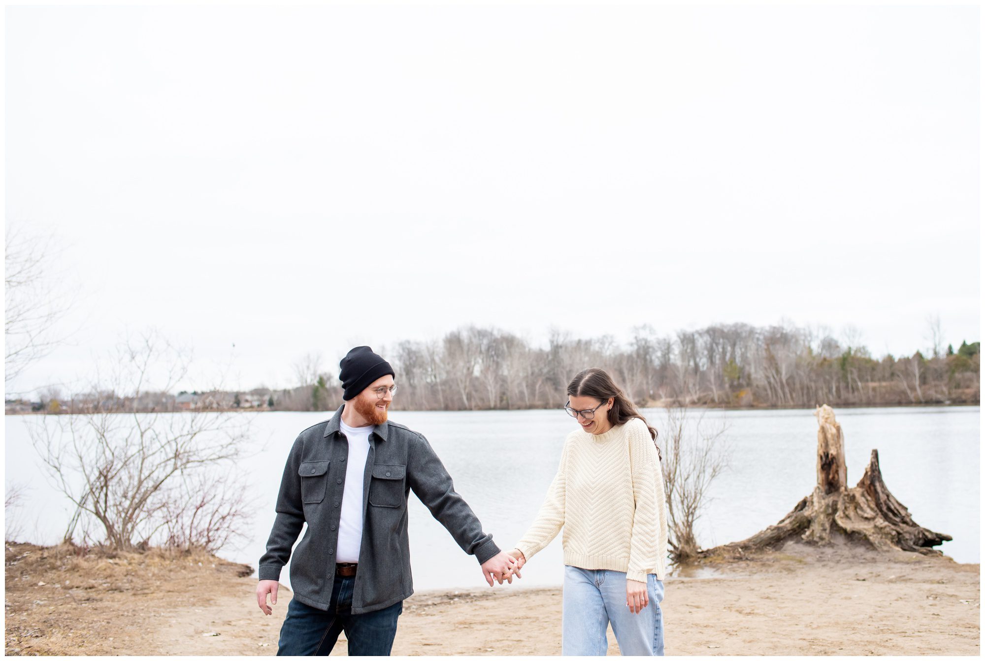
{"type": "MultiPolygon", "coordinates": [[[[207,556],[150,556],[75,558],[8,545],[6,653],[276,652],[290,591],[282,588],[268,617],[256,605],[255,579],[237,575],[243,565],[207,556]]],[[[525,571],[536,569],[531,562],[525,571]]],[[[667,654],[980,651],[977,564],[788,545],[746,562],[699,567],[665,583],[667,654]]],[[[524,588],[522,580],[418,593],[405,602],[393,653],[559,654],[560,604],[559,587],[524,588]]],[[[611,630],[609,639],[609,653],[619,654],[611,630]]],[[[333,654],[345,653],[340,639],[333,654]]]]}

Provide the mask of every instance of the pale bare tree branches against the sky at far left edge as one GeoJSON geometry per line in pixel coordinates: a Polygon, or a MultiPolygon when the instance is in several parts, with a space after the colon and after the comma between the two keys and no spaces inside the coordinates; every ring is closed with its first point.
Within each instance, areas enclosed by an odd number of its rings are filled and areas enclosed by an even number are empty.
{"type": "Polygon", "coordinates": [[[56,324],[74,290],[56,278],[50,239],[8,223],[4,233],[4,383],[47,356],[66,337],[56,324]]]}

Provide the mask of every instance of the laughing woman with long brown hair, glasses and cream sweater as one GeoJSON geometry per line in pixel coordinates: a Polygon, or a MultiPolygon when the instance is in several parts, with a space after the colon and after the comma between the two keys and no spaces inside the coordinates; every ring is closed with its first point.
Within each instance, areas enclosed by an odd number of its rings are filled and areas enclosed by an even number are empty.
{"type": "Polygon", "coordinates": [[[603,369],[579,372],[568,434],[537,519],[510,552],[523,566],[564,528],[561,653],[605,655],[611,623],[624,655],[664,653],[667,518],[657,431],[603,369]]]}

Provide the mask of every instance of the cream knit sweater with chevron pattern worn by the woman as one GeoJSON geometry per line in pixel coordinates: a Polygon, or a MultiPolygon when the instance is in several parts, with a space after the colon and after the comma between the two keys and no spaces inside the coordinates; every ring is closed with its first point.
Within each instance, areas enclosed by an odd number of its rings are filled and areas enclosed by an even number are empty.
{"type": "Polygon", "coordinates": [[[574,430],[533,525],[517,542],[528,561],[563,526],[564,564],[664,579],[667,514],[657,449],[633,418],[605,433],[574,430]]]}

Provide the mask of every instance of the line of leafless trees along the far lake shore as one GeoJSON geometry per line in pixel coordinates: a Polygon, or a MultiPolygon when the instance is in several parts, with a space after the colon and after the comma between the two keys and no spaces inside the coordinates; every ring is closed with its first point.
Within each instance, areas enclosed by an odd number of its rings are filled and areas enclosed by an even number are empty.
{"type": "MultiPolygon", "coordinates": [[[[814,407],[979,402],[979,343],[941,346],[932,328],[926,354],[874,358],[857,332],[736,323],[670,336],[636,329],[627,344],[611,336],[553,332],[547,346],[494,328],[468,326],[440,340],[382,347],[400,389],[393,408],[452,411],[561,406],[571,377],[609,370],[641,406],[814,407]],[[854,336],[854,337],[853,337],[854,336]],[[853,341],[855,340],[855,341],[853,341]]],[[[272,393],[275,409],[331,410],[342,404],[334,373],[306,358],[296,388],[272,393]]]]}

